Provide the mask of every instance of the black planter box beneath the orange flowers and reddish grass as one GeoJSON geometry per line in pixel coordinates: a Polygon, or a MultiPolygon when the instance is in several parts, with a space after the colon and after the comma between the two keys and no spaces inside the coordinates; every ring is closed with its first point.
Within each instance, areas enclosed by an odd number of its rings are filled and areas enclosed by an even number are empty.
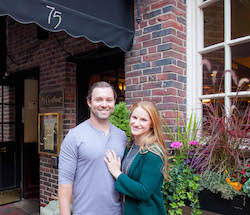
{"type": "Polygon", "coordinates": [[[204,189],[199,193],[199,201],[202,210],[226,215],[250,214],[250,198],[247,196],[239,195],[227,200],[222,199],[220,194],[204,189]]]}

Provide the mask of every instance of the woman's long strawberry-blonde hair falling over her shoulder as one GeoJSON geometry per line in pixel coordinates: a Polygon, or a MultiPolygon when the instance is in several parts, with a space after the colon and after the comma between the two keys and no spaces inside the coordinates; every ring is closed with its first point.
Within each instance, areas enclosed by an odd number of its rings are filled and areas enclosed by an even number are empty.
{"type": "MultiPolygon", "coordinates": [[[[164,175],[165,180],[168,180],[168,151],[163,138],[158,108],[150,101],[138,102],[133,105],[130,116],[137,107],[145,110],[149,114],[152,121],[152,128],[144,135],[142,142],[140,143],[140,153],[143,154],[147,153],[147,151],[150,151],[160,156],[164,163],[162,174],[164,175]]],[[[133,140],[134,136],[131,134],[130,143],[132,143],[133,140]]]]}

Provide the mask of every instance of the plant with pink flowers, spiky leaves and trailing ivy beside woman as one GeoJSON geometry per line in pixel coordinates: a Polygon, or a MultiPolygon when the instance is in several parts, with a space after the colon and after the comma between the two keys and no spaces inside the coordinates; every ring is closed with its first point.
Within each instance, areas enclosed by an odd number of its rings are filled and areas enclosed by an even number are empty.
{"type": "Polygon", "coordinates": [[[170,147],[174,152],[174,155],[170,157],[172,160],[169,171],[170,180],[165,181],[162,187],[164,204],[170,215],[182,214],[184,206],[192,207],[192,214],[201,214],[198,199],[200,177],[186,165],[188,149],[197,147],[197,142],[193,141],[197,135],[196,118],[194,117],[194,120],[191,119],[189,124],[185,125],[185,122],[180,122],[177,114],[176,121],[177,136],[163,119],[165,131],[173,141],[170,147]],[[184,125],[184,129],[180,126],[181,124],[184,125]]]}

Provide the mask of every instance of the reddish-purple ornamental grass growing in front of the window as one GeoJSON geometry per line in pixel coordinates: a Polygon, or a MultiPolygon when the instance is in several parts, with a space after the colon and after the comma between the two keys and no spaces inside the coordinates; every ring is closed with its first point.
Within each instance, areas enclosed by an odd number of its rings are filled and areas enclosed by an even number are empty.
{"type": "Polygon", "coordinates": [[[241,170],[246,163],[244,152],[250,148],[249,107],[241,117],[236,105],[230,116],[226,115],[223,105],[211,103],[206,108],[207,116],[201,134],[203,144],[197,148],[191,167],[200,174],[213,171],[221,175],[226,170],[229,174],[233,169],[241,170]]]}

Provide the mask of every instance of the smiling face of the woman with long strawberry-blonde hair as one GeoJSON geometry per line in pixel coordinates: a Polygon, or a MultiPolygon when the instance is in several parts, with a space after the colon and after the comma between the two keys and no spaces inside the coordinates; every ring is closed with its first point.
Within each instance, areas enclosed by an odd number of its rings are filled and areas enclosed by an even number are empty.
{"type": "Polygon", "coordinates": [[[144,109],[137,107],[130,116],[131,134],[135,138],[140,138],[152,128],[152,120],[144,109]]]}

